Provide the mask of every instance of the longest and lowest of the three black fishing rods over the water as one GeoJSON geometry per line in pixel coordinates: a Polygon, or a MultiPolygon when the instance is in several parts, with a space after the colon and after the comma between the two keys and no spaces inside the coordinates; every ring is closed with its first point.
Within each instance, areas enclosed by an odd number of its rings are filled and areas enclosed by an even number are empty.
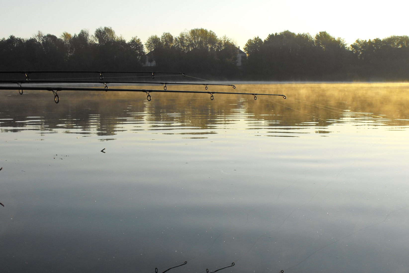
{"type": "MultiPolygon", "coordinates": [[[[20,94],[23,93],[22,87],[11,87],[11,86],[0,86],[0,90],[18,90],[20,94]]],[[[58,97],[57,92],[61,90],[65,91],[108,91],[106,88],[79,88],[79,87],[25,87],[25,90],[48,90],[52,91],[54,94],[54,101],[55,103],[58,103],[60,101],[60,98],[58,97]],[[55,90],[55,91],[54,91],[55,90]]],[[[144,92],[146,93],[146,99],[148,101],[151,101],[151,95],[150,93],[152,92],[162,92],[162,93],[205,93],[205,94],[210,94],[210,99],[213,100],[213,94],[234,94],[234,95],[253,95],[254,99],[257,99],[257,95],[263,95],[263,96],[281,96],[284,99],[286,98],[285,95],[279,95],[279,94],[261,94],[261,93],[235,93],[235,92],[210,92],[210,91],[187,91],[187,90],[146,90],[146,89],[123,89],[123,88],[110,88],[110,91],[122,91],[122,92],[144,92]]]]}

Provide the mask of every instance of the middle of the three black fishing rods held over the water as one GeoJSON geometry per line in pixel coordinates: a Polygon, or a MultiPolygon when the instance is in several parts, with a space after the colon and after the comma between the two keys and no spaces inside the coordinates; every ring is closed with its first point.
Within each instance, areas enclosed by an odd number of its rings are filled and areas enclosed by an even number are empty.
{"type": "Polygon", "coordinates": [[[216,86],[231,86],[236,89],[234,84],[217,84],[217,83],[179,83],[179,82],[158,82],[158,81],[63,81],[63,80],[29,80],[29,81],[19,81],[19,80],[0,80],[0,83],[17,83],[21,87],[22,83],[101,83],[104,88],[108,89],[108,83],[147,83],[147,84],[163,84],[163,89],[166,90],[166,84],[188,84],[188,85],[204,85],[207,90],[208,85],[216,86]]]}

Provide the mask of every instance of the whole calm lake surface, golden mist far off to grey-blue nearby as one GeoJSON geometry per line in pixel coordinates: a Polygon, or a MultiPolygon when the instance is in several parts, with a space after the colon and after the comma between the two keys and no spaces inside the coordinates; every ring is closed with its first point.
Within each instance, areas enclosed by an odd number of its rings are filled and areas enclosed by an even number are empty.
{"type": "Polygon", "coordinates": [[[236,86],[0,90],[2,272],[409,272],[409,84],[236,86]]]}

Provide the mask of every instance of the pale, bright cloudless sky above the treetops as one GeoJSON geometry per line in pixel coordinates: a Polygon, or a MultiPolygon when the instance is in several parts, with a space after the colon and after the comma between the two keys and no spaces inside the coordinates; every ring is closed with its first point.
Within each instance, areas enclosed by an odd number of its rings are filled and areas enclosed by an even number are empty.
{"type": "Polygon", "coordinates": [[[351,44],[357,38],[409,35],[407,1],[321,0],[2,0],[0,38],[30,38],[38,30],[60,36],[112,27],[127,41],[143,43],[156,34],[178,36],[185,29],[205,28],[227,35],[240,48],[248,39],[290,30],[312,36],[326,31],[351,44]]]}

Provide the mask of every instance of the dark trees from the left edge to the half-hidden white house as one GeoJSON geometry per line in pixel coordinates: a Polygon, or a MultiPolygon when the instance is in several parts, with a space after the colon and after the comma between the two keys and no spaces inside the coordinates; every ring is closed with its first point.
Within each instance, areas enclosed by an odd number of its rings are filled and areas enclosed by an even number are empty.
{"type": "Polygon", "coordinates": [[[83,29],[60,37],[38,32],[29,39],[0,40],[0,70],[135,70],[144,56],[137,36],[127,42],[110,27],[94,35],[83,29]]]}

